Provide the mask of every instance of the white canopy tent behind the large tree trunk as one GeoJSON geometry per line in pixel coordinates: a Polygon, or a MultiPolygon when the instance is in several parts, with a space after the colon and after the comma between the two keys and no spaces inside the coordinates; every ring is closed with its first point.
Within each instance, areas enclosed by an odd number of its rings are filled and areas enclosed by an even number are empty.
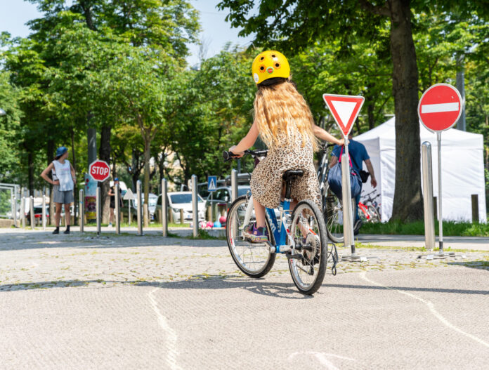
{"type": "MultiPolygon", "coordinates": [[[[365,145],[374,166],[380,197],[382,222],[392,216],[396,178],[395,118],[363,133],[353,140],[365,145]]],[[[438,197],[438,154],[436,133],[419,124],[421,143],[431,143],[433,164],[433,196],[438,197]]],[[[420,149],[421,150],[421,149],[420,149]]],[[[486,222],[483,136],[450,128],[441,134],[441,171],[443,220],[471,221],[471,194],[478,194],[479,220],[486,222]]],[[[363,169],[366,171],[365,163],[363,169]]],[[[419,166],[421,171],[421,164],[419,166]]],[[[362,194],[373,190],[370,178],[363,184],[362,194]]]]}

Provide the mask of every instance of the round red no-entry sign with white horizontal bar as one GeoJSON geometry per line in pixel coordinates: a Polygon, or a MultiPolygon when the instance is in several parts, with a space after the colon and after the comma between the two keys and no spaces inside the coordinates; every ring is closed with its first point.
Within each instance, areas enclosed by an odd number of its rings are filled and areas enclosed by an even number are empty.
{"type": "Polygon", "coordinates": [[[458,121],[460,114],[462,97],[452,85],[433,85],[419,99],[419,120],[429,131],[448,130],[458,121]]]}

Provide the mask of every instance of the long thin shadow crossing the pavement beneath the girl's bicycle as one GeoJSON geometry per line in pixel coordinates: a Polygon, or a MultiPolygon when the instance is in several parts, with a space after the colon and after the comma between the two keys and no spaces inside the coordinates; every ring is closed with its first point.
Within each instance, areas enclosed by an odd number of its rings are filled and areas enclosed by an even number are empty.
{"type": "MultiPolygon", "coordinates": [[[[52,289],[52,288],[68,288],[77,286],[87,286],[88,284],[109,284],[107,287],[112,287],[113,284],[130,285],[130,286],[152,286],[162,289],[245,289],[256,294],[265,296],[274,296],[280,298],[304,299],[310,296],[302,296],[298,293],[294,283],[266,282],[265,279],[247,279],[238,275],[193,275],[188,280],[178,282],[148,282],[145,280],[135,281],[120,281],[120,280],[60,280],[52,282],[31,282],[18,284],[0,285],[0,294],[2,291],[19,291],[31,289],[52,289]]],[[[455,293],[455,294],[481,294],[489,295],[489,291],[471,290],[471,289],[443,289],[443,288],[419,288],[411,286],[372,286],[372,285],[353,285],[353,284],[322,284],[320,289],[324,291],[327,288],[341,289],[372,289],[385,290],[396,289],[399,291],[429,291],[433,293],[455,293]]]]}

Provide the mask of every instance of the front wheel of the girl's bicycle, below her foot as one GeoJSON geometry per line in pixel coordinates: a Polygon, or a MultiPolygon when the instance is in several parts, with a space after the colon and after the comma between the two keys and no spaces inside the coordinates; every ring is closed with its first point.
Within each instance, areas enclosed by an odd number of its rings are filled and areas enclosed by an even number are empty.
{"type": "MultiPolygon", "coordinates": [[[[267,244],[257,244],[245,241],[242,238],[244,216],[249,204],[246,195],[237,198],[229,207],[228,218],[226,220],[226,239],[231,257],[237,267],[249,277],[263,277],[268,274],[275,263],[275,253],[270,253],[267,244]]],[[[254,211],[250,222],[255,221],[254,211]]],[[[270,235],[270,243],[273,244],[273,234],[270,223],[266,218],[266,227],[270,235]]]]}

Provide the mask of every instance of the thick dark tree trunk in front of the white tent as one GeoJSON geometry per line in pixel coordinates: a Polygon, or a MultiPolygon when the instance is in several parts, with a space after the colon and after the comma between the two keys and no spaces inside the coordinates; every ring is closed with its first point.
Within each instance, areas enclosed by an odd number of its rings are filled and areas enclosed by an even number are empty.
{"type": "Polygon", "coordinates": [[[396,113],[396,188],[393,220],[423,216],[418,105],[418,70],[409,0],[391,0],[392,86],[396,113]]]}

